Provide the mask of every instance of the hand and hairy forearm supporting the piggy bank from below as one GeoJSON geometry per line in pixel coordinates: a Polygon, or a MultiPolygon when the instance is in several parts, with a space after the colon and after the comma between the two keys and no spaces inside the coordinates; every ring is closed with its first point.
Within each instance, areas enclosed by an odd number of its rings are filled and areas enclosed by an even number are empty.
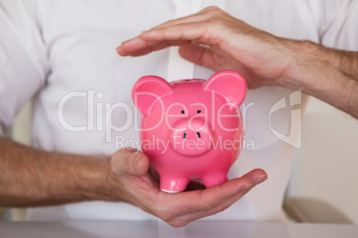
{"type": "Polygon", "coordinates": [[[69,202],[128,202],[172,226],[225,210],[263,182],[263,170],[203,190],[167,194],[146,155],[120,149],[89,156],[45,152],[0,138],[0,206],[36,207],[69,202]]]}

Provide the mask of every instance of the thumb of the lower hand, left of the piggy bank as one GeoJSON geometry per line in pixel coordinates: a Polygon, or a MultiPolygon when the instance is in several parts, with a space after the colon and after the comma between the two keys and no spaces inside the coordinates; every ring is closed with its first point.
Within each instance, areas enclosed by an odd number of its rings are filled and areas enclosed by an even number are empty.
{"type": "Polygon", "coordinates": [[[150,161],[142,152],[123,148],[112,155],[111,166],[112,171],[117,175],[142,176],[149,170],[150,161]]]}

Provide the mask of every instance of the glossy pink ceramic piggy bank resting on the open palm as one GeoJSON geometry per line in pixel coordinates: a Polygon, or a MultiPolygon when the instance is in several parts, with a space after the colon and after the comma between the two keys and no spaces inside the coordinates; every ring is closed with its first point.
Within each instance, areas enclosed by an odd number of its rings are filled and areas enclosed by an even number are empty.
{"type": "Polygon", "coordinates": [[[184,191],[192,179],[206,187],[227,181],[243,139],[240,105],[247,83],[235,71],[221,71],[207,81],[168,83],[143,76],[132,91],[142,113],[141,147],[159,172],[160,189],[184,191]]]}

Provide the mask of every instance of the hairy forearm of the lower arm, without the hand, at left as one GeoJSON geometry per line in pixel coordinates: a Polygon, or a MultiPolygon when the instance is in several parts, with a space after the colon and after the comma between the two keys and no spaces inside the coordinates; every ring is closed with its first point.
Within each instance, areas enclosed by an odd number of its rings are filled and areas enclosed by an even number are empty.
{"type": "Polygon", "coordinates": [[[110,158],[65,155],[0,138],[0,206],[108,200],[110,158]]]}

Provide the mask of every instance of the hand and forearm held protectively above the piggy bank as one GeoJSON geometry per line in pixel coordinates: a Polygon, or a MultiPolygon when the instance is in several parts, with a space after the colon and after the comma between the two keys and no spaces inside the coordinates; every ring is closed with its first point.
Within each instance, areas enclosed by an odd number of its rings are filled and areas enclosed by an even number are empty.
{"type": "Polygon", "coordinates": [[[217,7],[144,31],[117,52],[140,56],[171,45],[180,45],[181,56],[200,66],[240,72],[248,88],[302,90],[358,118],[358,52],[273,36],[217,7]]]}

